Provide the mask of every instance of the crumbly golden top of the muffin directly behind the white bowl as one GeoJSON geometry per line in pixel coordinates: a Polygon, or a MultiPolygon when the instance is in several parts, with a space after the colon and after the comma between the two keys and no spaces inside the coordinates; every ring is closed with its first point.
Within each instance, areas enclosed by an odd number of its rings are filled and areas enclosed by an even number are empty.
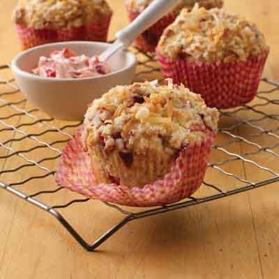
{"type": "Polygon", "coordinates": [[[12,18],[25,27],[43,29],[102,22],[110,13],[105,0],[20,0],[12,18]]]}

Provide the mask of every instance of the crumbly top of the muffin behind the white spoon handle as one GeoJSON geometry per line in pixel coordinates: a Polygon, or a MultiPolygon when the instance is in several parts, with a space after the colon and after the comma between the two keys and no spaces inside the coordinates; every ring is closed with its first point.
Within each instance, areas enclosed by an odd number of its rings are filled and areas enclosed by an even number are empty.
{"type": "MultiPolygon", "coordinates": [[[[142,12],[153,0],[126,0],[126,5],[130,10],[137,12],[142,12]]],[[[188,8],[189,10],[193,8],[195,3],[199,3],[199,6],[204,8],[221,8],[223,6],[223,0],[181,0],[181,3],[175,9],[179,13],[181,8],[188,8]]]]}

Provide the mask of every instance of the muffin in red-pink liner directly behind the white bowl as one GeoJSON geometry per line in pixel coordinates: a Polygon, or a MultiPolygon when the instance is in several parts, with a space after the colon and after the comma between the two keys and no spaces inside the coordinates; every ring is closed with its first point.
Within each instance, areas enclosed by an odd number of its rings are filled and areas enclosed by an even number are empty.
{"type": "Polygon", "coordinates": [[[111,17],[105,0],[20,0],[12,15],[23,49],[66,40],[106,41],[111,17]]]}

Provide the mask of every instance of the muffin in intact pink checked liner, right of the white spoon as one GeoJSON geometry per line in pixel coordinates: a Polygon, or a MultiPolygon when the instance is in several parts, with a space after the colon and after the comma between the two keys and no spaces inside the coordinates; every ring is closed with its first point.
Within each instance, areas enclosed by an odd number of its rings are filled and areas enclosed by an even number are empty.
{"type": "Polygon", "coordinates": [[[206,105],[227,109],[255,97],[269,47],[255,24],[196,5],[165,29],[157,54],[165,77],[201,94],[206,105]]]}

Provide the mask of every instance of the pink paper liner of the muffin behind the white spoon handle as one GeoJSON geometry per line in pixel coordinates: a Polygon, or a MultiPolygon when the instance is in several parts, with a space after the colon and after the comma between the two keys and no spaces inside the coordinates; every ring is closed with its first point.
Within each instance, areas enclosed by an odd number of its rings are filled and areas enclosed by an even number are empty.
{"type": "MultiPolygon", "coordinates": [[[[129,10],[128,8],[127,10],[130,22],[133,22],[133,20],[140,15],[139,12],[129,10]]],[[[165,28],[174,22],[175,18],[176,13],[168,13],[163,16],[160,20],[158,20],[158,22],[153,24],[149,27],[149,29],[144,31],[144,33],[135,39],[135,45],[144,52],[155,52],[160,36],[162,36],[165,28]]]]}

